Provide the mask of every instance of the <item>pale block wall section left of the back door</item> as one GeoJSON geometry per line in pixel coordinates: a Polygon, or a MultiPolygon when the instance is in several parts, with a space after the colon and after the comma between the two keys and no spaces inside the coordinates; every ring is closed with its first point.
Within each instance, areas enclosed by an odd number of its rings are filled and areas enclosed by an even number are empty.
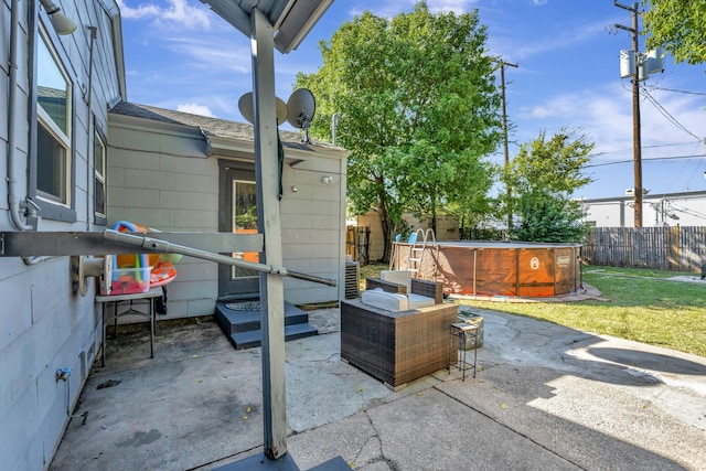
{"type": "MultiPolygon", "coordinates": [[[[126,124],[110,115],[107,178],[108,226],[129,221],[162,232],[218,229],[218,164],[205,158],[197,129],[126,124]]],[[[168,318],[213,314],[216,264],[183,257],[176,274],[168,286],[168,318]]]]}

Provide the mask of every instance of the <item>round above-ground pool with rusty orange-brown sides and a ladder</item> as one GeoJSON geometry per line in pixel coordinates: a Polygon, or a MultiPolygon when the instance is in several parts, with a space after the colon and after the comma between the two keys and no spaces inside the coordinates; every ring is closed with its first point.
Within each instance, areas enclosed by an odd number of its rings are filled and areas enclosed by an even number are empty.
{"type": "MultiPolygon", "coordinates": [[[[416,268],[413,245],[395,243],[395,269],[416,268]],[[410,261],[410,258],[413,261],[410,261]]],[[[420,248],[420,245],[417,245],[420,248]]],[[[480,240],[427,243],[418,277],[443,282],[443,292],[546,297],[581,289],[581,244],[480,240]]]]}

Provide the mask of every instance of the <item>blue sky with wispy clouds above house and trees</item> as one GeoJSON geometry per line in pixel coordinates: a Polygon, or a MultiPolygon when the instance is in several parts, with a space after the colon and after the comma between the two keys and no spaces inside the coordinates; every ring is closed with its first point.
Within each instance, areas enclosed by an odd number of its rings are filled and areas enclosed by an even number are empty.
{"type": "MultiPolygon", "coordinates": [[[[122,13],[128,99],[235,121],[252,90],[249,39],[199,0],[118,0],[122,13]]],[[[632,6],[632,2],[621,2],[632,6]]],[[[298,72],[321,65],[319,41],[365,10],[392,18],[414,0],[335,0],[297,51],[276,53],[276,90],[285,101],[298,72]]],[[[561,128],[596,143],[596,181],[576,196],[622,196],[634,185],[632,86],[619,54],[631,46],[630,12],[612,0],[429,0],[431,11],[479,9],[489,53],[505,72],[510,156],[561,128]]],[[[642,28],[642,22],[640,22],[642,28]]],[[[644,52],[643,39],[640,43],[644,52]]],[[[643,186],[650,194],[706,191],[706,64],[675,65],[643,82],[643,186]]],[[[500,77],[498,78],[500,83],[500,77]]],[[[492,159],[502,162],[502,149],[492,159]]]]}

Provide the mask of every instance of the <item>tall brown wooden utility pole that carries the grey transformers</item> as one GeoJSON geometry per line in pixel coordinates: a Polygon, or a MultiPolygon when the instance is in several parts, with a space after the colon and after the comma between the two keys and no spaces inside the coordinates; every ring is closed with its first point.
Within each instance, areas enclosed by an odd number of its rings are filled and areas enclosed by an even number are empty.
{"type": "Polygon", "coordinates": [[[632,7],[628,7],[617,1],[613,4],[623,10],[631,12],[632,28],[616,24],[616,28],[625,30],[632,34],[632,50],[634,51],[634,68],[632,71],[632,149],[633,149],[633,170],[634,170],[634,215],[635,227],[642,227],[642,139],[640,131],[640,53],[638,41],[638,2],[632,7]]]}

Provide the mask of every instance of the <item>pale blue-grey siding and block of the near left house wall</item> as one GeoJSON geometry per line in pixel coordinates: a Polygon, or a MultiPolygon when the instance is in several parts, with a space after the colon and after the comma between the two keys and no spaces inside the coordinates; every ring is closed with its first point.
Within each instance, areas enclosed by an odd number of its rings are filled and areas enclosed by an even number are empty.
{"type": "MultiPolygon", "coordinates": [[[[40,21],[47,25],[51,41],[64,58],[74,88],[72,150],[75,164],[72,178],[76,188],[73,201],[76,222],[44,217],[40,229],[87,231],[95,228],[93,116],[106,131],[106,104],[120,98],[124,90],[122,77],[117,72],[122,63],[121,51],[113,46],[111,18],[101,4],[115,12],[117,6],[111,0],[104,3],[87,0],[55,3],[78,23],[73,35],[56,36],[44,11],[36,13],[40,21]],[[98,29],[93,61],[92,114],[81,92],[88,85],[90,40],[87,25],[98,29]]],[[[7,179],[12,176],[17,180],[20,199],[30,192],[26,175],[32,109],[28,101],[33,86],[28,64],[31,63],[30,38],[35,34],[34,19],[38,18],[31,11],[39,10],[39,2],[18,2],[18,95],[13,116],[10,116],[7,106],[12,29],[10,8],[10,0],[0,2],[0,208],[3,210],[0,231],[3,232],[17,231],[8,211],[7,179]],[[15,148],[11,154],[8,149],[9,119],[15,125],[15,148]],[[6,162],[9,158],[15,159],[14,175],[7,175],[6,162]]],[[[25,265],[20,258],[0,258],[0,468],[42,470],[58,446],[68,422],[67,409],[75,404],[98,351],[99,312],[93,296],[83,298],[72,292],[68,257],[55,257],[32,266],[25,265]],[[56,381],[56,370],[60,367],[71,368],[67,382],[56,381]]]]}

